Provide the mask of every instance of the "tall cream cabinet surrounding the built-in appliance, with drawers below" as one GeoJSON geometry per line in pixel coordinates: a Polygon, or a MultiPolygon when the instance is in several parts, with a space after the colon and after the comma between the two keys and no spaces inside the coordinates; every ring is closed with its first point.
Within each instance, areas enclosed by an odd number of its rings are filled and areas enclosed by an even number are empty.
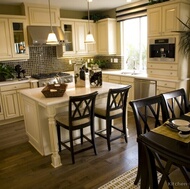
{"type": "MultiPolygon", "coordinates": [[[[180,34],[174,31],[183,30],[177,18],[186,22],[190,16],[190,1],[173,0],[147,7],[148,41],[155,39],[175,39],[175,58],[173,61],[147,61],[147,73],[151,77],[184,80],[189,77],[188,59],[179,48],[180,34]]],[[[149,45],[149,44],[148,44],[149,45]]],[[[149,48],[149,46],[148,46],[149,48]]],[[[187,86],[186,86],[187,88],[187,86]]]]}

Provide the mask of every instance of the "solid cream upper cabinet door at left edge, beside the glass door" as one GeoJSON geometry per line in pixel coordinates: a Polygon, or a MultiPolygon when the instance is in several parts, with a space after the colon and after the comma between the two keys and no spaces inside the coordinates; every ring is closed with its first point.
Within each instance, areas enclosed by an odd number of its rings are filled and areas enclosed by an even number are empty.
{"type": "Polygon", "coordinates": [[[12,57],[8,19],[0,18],[0,58],[12,57]]]}

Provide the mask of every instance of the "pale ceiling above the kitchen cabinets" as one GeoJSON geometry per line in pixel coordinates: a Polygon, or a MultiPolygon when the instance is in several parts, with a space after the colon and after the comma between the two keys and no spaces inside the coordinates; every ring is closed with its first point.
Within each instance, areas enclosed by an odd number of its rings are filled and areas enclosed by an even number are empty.
{"type": "MultiPolygon", "coordinates": [[[[132,2],[141,0],[131,0],[132,2]]],[[[18,3],[30,3],[30,4],[43,4],[48,5],[48,0],[0,0],[0,4],[18,4],[18,3]]],[[[87,0],[50,0],[51,6],[59,7],[64,10],[87,10],[87,0]]],[[[114,9],[122,5],[126,5],[127,0],[93,0],[90,3],[90,10],[103,11],[114,9]]]]}

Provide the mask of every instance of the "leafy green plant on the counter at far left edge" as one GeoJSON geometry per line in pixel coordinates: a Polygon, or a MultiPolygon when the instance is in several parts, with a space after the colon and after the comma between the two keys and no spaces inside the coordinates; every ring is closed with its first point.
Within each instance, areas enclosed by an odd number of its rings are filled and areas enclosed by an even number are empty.
{"type": "Polygon", "coordinates": [[[14,69],[6,64],[0,64],[0,81],[14,78],[14,69]]]}

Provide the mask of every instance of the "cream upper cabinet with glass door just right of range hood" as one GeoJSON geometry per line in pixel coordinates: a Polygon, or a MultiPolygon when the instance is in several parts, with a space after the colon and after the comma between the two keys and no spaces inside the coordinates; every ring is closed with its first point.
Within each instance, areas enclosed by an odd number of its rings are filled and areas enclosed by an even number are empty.
{"type": "MultiPolygon", "coordinates": [[[[95,36],[95,24],[90,23],[90,31],[95,36]]],[[[96,45],[85,44],[88,33],[88,22],[80,19],[62,19],[61,27],[64,32],[65,43],[57,46],[58,57],[70,55],[88,55],[96,53],[96,45]]],[[[96,40],[96,37],[95,37],[96,40]]]]}

